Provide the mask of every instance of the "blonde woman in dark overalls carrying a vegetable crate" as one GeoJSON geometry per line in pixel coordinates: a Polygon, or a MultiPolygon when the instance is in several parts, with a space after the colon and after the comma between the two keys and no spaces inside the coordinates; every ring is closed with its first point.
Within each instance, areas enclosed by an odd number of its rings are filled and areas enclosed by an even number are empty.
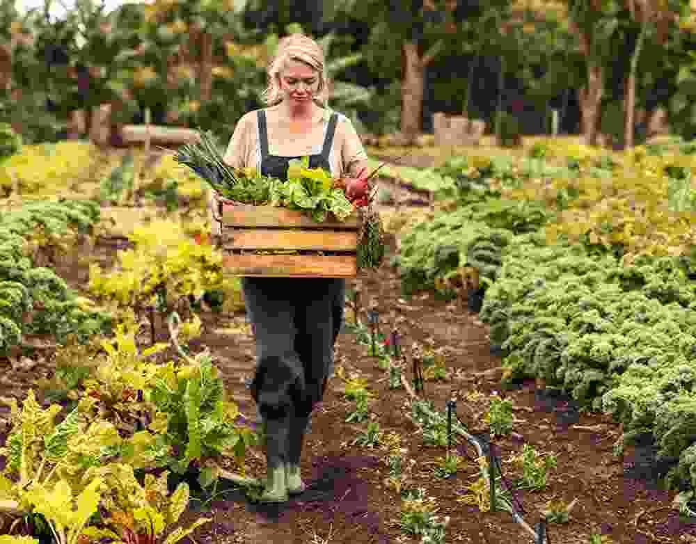
{"type": "MultiPolygon", "coordinates": [[[[283,38],[267,72],[264,102],[269,107],[237,122],[224,157],[228,165],[255,167],[285,180],[288,161],[306,155],[310,168],[325,168],[335,178],[354,178],[367,168],[367,154],[350,120],[325,107],[324,54],[317,42],[303,34],[283,38]]],[[[345,190],[349,200],[365,195],[365,186],[354,179],[345,190]]],[[[242,278],[242,287],[256,337],[251,395],[266,431],[268,475],[260,500],[284,502],[305,489],[302,443],[333,368],[345,280],[242,278]]]]}

